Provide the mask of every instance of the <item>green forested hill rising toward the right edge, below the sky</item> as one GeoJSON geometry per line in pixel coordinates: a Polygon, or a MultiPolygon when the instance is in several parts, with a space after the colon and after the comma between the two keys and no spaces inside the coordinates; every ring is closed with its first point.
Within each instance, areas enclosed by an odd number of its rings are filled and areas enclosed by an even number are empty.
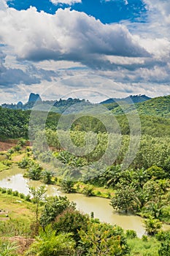
{"type": "MultiPolygon", "coordinates": [[[[111,103],[106,104],[105,106],[109,108],[109,110],[112,110],[112,113],[118,115],[123,114],[123,110],[120,108],[120,105],[117,106],[117,104],[111,103]]],[[[161,116],[170,118],[170,95],[135,103],[135,107],[140,115],[142,114],[147,116],[161,116]]],[[[129,104],[124,104],[123,108],[125,108],[126,113],[134,110],[134,106],[129,104]]]]}

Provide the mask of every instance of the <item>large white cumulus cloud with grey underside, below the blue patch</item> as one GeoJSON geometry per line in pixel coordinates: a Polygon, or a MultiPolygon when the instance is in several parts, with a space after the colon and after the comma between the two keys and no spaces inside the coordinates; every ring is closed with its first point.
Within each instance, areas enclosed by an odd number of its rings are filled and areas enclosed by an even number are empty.
{"type": "Polygon", "coordinates": [[[100,20],[69,9],[55,15],[9,8],[0,11],[0,42],[7,44],[20,59],[80,61],[93,64],[101,56],[148,56],[147,50],[120,24],[100,20]]]}

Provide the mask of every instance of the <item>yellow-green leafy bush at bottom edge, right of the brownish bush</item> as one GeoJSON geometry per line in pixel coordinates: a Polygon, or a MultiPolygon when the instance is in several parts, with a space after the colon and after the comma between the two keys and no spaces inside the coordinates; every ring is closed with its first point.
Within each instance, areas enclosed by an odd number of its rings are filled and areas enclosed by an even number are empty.
{"type": "Polygon", "coordinates": [[[129,255],[130,248],[121,227],[89,222],[88,231],[78,233],[82,246],[88,250],[87,255],[129,255]]]}

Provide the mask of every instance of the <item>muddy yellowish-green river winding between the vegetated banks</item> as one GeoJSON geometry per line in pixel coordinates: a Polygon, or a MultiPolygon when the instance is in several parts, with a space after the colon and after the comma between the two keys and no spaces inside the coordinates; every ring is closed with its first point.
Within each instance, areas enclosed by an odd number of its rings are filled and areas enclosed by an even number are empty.
{"type": "MultiPolygon", "coordinates": [[[[38,187],[41,183],[39,181],[31,181],[28,178],[23,178],[24,170],[15,167],[12,170],[5,170],[0,173],[0,187],[11,188],[18,190],[20,193],[28,195],[28,187],[38,187]]],[[[113,211],[112,206],[109,205],[109,199],[101,197],[86,197],[81,194],[64,194],[54,185],[46,185],[47,195],[66,195],[69,200],[77,204],[77,209],[90,214],[92,211],[94,217],[101,220],[101,222],[108,222],[112,225],[116,224],[123,227],[124,230],[135,230],[137,236],[144,235],[144,226],[142,218],[130,214],[120,214],[113,211]]],[[[169,225],[163,225],[163,229],[170,229],[169,225]]]]}

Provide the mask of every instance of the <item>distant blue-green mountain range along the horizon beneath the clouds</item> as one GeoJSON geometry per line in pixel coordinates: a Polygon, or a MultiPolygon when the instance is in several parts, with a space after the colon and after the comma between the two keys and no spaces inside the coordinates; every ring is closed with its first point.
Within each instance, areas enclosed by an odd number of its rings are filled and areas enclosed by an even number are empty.
{"type": "MultiPolygon", "coordinates": [[[[31,93],[28,97],[28,102],[18,102],[18,104],[2,104],[2,108],[9,108],[14,110],[31,110],[36,106],[37,110],[52,111],[55,113],[63,113],[72,105],[74,105],[75,113],[80,112],[80,107],[77,107],[77,103],[81,103],[82,112],[84,110],[92,110],[95,108],[95,104],[90,103],[85,99],[59,99],[59,100],[42,100],[39,94],[31,93]],[[53,107],[52,107],[53,106],[53,107]]],[[[147,116],[163,116],[170,118],[170,95],[163,97],[150,98],[146,95],[130,95],[123,99],[107,99],[99,104],[104,105],[115,115],[122,115],[123,113],[133,113],[134,105],[139,114],[147,116]],[[123,109],[121,108],[123,106],[123,109]]],[[[70,109],[73,113],[73,108],[70,109]]]]}

